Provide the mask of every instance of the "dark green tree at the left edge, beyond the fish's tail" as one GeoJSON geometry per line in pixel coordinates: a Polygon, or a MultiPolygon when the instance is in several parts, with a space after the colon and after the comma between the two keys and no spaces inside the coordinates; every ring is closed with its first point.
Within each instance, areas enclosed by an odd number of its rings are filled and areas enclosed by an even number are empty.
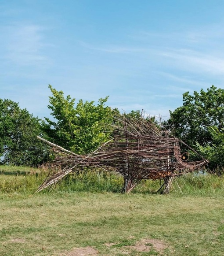
{"type": "Polygon", "coordinates": [[[40,119],[12,100],[0,99],[1,164],[37,166],[47,157],[47,148],[37,138],[40,119]]]}

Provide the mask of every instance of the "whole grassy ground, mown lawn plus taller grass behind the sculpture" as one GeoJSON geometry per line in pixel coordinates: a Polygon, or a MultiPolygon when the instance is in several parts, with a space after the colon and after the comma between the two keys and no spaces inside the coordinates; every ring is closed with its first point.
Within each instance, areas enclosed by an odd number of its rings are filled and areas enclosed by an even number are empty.
{"type": "Polygon", "coordinates": [[[224,255],[224,178],[188,174],[120,194],[114,175],[70,176],[34,193],[46,173],[0,167],[0,256],[224,255]]]}

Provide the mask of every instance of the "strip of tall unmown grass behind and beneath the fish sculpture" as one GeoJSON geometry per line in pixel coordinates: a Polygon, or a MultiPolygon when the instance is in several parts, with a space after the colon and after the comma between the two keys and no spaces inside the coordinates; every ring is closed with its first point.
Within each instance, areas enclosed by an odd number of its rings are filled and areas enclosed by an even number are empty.
{"type": "MultiPolygon", "coordinates": [[[[51,170],[44,168],[0,166],[0,193],[35,193],[51,170]]],[[[163,181],[143,180],[132,193],[157,193],[163,181]]],[[[50,189],[63,192],[113,192],[123,187],[123,178],[103,171],[71,173],[50,189]]],[[[224,176],[190,173],[174,179],[172,194],[212,196],[224,193],[224,176]]]]}

